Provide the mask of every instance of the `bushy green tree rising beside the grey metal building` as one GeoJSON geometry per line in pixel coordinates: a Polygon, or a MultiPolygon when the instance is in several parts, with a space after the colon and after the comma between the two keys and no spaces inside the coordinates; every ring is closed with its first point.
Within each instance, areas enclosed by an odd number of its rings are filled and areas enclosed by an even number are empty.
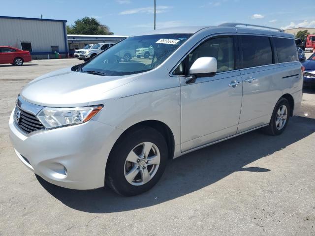
{"type": "Polygon", "coordinates": [[[74,22],[74,25],[67,26],[68,34],[114,34],[110,31],[109,27],[106,25],[100,24],[93,17],[83,17],[82,19],[78,19],[74,22]]]}

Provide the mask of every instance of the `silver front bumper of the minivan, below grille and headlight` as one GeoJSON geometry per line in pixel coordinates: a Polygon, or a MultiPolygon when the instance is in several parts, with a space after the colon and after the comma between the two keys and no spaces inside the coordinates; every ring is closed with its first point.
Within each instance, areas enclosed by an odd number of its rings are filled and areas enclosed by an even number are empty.
{"type": "Polygon", "coordinates": [[[25,134],[9,120],[9,135],[19,159],[35,174],[71,189],[104,186],[106,162],[123,130],[90,120],[83,124],[25,134]]]}

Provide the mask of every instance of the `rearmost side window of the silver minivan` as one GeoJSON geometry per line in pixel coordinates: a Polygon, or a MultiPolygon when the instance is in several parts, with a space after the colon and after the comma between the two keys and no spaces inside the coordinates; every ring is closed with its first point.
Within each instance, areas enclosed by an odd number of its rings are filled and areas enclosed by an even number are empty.
{"type": "Polygon", "coordinates": [[[299,60],[295,41],[293,39],[274,38],[274,42],[277,49],[279,63],[299,60]]]}

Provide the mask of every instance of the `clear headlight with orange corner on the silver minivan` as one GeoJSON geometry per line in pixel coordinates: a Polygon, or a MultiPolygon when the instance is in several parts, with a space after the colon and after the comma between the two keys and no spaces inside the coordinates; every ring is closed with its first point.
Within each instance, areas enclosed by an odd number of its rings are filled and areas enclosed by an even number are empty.
{"type": "Polygon", "coordinates": [[[102,108],[102,105],[73,108],[46,107],[37,114],[37,118],[45,128],[49,129],[84,123],[94,117],[102,108]]]}

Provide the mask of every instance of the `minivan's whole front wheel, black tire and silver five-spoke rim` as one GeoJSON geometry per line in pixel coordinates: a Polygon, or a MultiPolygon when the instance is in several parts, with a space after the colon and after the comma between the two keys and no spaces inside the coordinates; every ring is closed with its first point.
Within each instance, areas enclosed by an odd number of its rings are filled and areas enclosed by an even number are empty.
{"type": "Polygon", "coordinates": [[[113,148],[106,167],[106,184],[121,195],[133,196],[152,188],[167,162],[167,144],[154,128],[128,132],[113,148]]]}

